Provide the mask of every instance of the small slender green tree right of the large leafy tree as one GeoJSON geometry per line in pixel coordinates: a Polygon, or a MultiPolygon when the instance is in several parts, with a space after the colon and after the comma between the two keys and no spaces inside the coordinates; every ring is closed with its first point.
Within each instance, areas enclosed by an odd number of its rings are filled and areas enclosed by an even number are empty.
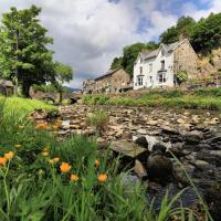
{"type": "Polygon", "coordinates": [[[71,66],[62,64],[60,62],[54,63],[54,81],[53,85],[56,91],[60,93],[60,103],[62,103],[62,94],[64,92],[64,87],[62,86],[64,83],[69,83],[73,78],[73,70],[71,66]]]}

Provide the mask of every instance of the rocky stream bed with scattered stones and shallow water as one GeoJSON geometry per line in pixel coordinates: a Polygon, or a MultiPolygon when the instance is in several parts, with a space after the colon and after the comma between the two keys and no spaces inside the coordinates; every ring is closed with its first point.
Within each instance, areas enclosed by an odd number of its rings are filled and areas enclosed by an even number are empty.
{"type": "Polygon", "coordinates": [[[110,148],[115,157],[122,156],[120,169],[131,168],[129,180],[147,185],[156,209],[167,190],[173,196],[186,187],[182,206],[197,206],[186,171],[204,196],[214,220],[221,220],[221,113],[76,104],[60,107],[63,122],[56,133],[62,137],[97,136],[87,120],[99,109],[107,113],[108,122],[97,143],[110,148]]]}

